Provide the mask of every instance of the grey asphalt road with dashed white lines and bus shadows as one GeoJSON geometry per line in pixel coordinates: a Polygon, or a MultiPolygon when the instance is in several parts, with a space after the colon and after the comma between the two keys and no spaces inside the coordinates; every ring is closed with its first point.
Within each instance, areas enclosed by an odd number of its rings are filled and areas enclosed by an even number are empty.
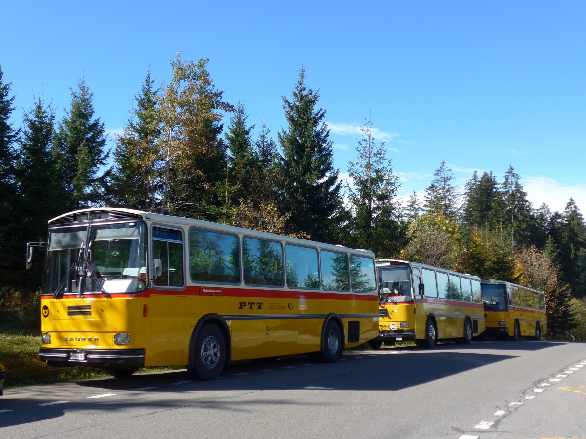
{"type": "Polygon", "coordinates": [[[586,344],[475,342],[8,389],[0,438],[586,438],[586,344]]]}

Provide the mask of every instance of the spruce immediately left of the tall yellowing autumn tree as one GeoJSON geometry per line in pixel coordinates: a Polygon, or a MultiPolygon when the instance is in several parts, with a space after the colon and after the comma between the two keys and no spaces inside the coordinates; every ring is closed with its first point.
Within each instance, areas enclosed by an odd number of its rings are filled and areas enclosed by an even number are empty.
{"type": "Polygon", "coordinates": [[[161,136],[157,119],[157,96],[147,70],[141,91],[135,95],[136,108],[117,136],[114,149],[114,170],[110,188],[111,203],[123,207],[154,211],[158,207],[158,167],[161,160],[156,142],[161,136]]]}

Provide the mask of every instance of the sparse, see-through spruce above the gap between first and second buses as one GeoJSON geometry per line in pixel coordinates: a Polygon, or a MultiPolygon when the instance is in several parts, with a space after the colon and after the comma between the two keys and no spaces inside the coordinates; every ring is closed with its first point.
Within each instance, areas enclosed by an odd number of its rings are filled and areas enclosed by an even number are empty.
{"type": "Polygon", "coordinates": [[[365,122],[356,148],[359,162],[348,166],[352,242],[380,257],[389,257],[398,254],[404,235],[401,206],[396,200],[400,184],[393,174],[391,159],[387,159],[385,142],[375,145],[372,121],[365,117],[365,122]]]}

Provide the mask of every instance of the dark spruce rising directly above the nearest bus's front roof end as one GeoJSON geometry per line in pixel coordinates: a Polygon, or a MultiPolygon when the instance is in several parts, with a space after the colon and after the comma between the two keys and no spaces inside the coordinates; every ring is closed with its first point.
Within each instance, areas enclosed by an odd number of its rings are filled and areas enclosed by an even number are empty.
{"type": "Polygon", "coordinates": [[[80,209],[104,200],[108,158],[104,123],[94,118],[93,93],[84,78],[71,90],[71,107],[57,126],[53,155],[67,191],[67,207],[80,209]]]}

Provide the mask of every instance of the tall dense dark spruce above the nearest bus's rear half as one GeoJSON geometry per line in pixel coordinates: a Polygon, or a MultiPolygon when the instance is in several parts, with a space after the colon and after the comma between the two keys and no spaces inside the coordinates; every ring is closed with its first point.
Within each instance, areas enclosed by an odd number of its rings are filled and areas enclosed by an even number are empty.
{"type": "Polygon", "coordinates": [[[306,87],[305,67],[299,69],[292,99],[282,100],[287,128],[278,133],[282,156],[275,164],[281,207],[290,212],[293,231],[331,242],[339,224],[342,184],[333,168],[325,109],[316,108],[319,95],[306,87]]]}

